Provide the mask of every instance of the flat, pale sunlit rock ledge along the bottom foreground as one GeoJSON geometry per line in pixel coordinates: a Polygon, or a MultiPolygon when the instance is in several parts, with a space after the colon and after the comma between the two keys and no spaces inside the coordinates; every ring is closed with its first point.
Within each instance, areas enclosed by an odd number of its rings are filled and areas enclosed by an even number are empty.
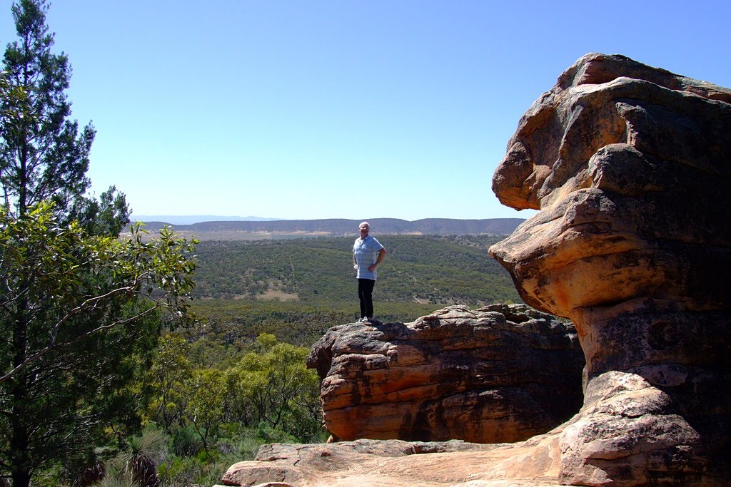
{"type": "Polygon", "coordinates": [[[555,437],[480,445],[461,441],[357,440],[265,445],[221,482],[257,487],[558,487],[555,437]],[[539,450],[542,453],[536,454],[539,450]]]}

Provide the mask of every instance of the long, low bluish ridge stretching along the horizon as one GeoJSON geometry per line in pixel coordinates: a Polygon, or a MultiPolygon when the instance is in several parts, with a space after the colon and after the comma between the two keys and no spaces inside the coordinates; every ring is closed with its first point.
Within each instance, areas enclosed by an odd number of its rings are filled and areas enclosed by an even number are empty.
{"type": "MultiPolygon", "coordinates": [[[[378,234],[512,234],[523,218],[485,218],[482,220],[459,220],[455,218],[424,218],[416,221],[398,218],[372,218],[371,231],[378,234]]],[[[162,226],[161,221],[145,221],[148,229],[162,226]]],[[[175,231],[192,232],[251,232],[272,234],[357,234],[360,220],[330,218],[322,220],[272,220],[272,221],[205,221],[200,223],[174,224],[175,231]]]]}

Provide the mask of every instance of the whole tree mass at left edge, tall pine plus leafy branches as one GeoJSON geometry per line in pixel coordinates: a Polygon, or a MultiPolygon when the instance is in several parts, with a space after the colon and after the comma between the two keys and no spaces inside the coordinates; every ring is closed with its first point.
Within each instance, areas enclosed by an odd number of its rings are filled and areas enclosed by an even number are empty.
{"type": "MultiPolygon", "coordinates": [[[[140,427],[133,384],[163,321],[185,318],[193,245],[118,239],[123,193],[88,196],[94,127],[72,120],[45,0],[18,0],[0,73],[0,480],[81,469],[140,427]]],[[[136,382],[137,381],[137,382],[136,382]]],[[[69,474],[70,475],[70,474],[69,474]]]]}

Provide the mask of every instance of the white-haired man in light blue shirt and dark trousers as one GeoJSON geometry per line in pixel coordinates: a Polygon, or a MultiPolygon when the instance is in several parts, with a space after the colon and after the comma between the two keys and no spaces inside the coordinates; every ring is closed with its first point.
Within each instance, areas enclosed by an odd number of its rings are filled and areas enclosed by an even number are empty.
{"type": "Polygon", "coordinates": [[[371,225],[367,221],[360,223],[358,231],[360,237],[353,243],[353,269],[357,271],[360,321],[368,322],[373,319],[373,288],[378,278],[376,267],[386,256],[386,249],[368,235],[371,225]]]}

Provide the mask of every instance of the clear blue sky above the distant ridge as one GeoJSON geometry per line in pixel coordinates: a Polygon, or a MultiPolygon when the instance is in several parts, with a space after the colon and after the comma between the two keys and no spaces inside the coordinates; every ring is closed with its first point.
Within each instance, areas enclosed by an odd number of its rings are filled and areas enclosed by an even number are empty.
{"type": "MultiPolygon", "coordinates": [[[[8,0],[0,40],[16,39],[8,0]]],[[[134,215],[527,218],[493,172],[589,53],[731,86],[731,2],[54,0],[89,177],[134,215]]]]}

